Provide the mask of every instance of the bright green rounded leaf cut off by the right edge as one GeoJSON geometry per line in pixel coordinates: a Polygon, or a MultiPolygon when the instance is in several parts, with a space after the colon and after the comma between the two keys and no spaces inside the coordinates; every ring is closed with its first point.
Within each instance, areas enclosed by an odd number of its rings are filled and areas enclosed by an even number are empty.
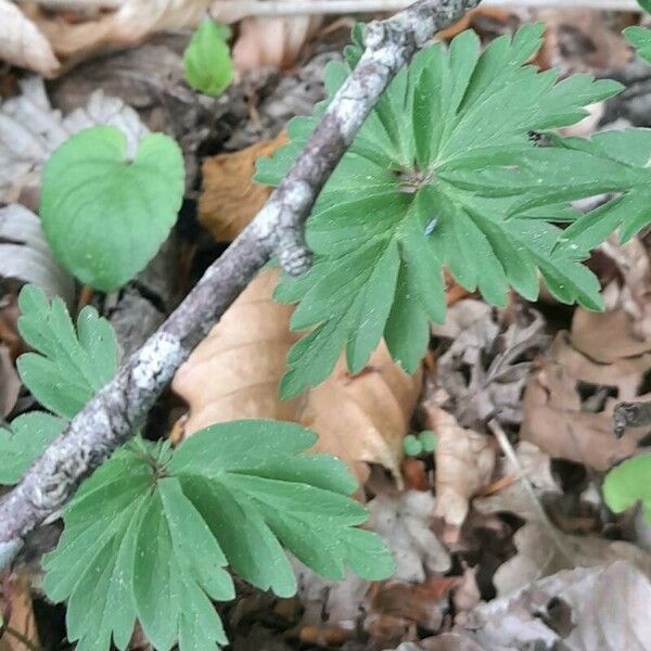
{"type": "Polygon", "coordinates": [[[613,468],[603,482],[603,497],[615,513],[641,501],[651,522],[651,455],[634,457],[613,468]]]}

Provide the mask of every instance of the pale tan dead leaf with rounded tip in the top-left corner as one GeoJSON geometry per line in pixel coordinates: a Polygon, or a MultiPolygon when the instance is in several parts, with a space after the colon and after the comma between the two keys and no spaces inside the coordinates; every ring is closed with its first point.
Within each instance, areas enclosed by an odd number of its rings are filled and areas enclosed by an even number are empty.
{"type": "Polygon", "coordinates": [[[0,60],[44,77],[61,66],[41,30],[10,0],[0,0],[0,60]]]}

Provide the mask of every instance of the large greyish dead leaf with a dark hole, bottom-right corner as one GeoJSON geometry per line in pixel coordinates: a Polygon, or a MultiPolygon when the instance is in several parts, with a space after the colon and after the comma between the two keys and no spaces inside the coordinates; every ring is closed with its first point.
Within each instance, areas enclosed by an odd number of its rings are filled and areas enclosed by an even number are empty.
{"type": "Polygon", "coordinates": [[[651,583],[617,561],[566,570],[480,605],[467,626],[485,649],[648,651],[651,583]]]}

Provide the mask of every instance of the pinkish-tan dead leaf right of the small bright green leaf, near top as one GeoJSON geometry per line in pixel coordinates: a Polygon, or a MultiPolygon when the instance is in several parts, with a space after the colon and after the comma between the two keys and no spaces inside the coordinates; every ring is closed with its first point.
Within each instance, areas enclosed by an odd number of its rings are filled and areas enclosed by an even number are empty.
{"type": "Polygon", "coordinates": [[[233,46],[235,67],[240,72],[264,65],[290,67],[321,23],[320,16],[244,18],[233,46]]]}

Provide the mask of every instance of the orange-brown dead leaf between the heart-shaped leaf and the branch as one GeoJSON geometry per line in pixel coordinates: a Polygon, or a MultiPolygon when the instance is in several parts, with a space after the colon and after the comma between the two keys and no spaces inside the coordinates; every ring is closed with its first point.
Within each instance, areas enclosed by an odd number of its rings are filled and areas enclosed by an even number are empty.
{"type": "Polygon", "coordinates": [[[230,242],[263,207],[271,188],[253,180],[255,162],[288,142],[284,131],[232,154],[206,158],[202,165],[199,220],[217,242],[230,242]]]}

